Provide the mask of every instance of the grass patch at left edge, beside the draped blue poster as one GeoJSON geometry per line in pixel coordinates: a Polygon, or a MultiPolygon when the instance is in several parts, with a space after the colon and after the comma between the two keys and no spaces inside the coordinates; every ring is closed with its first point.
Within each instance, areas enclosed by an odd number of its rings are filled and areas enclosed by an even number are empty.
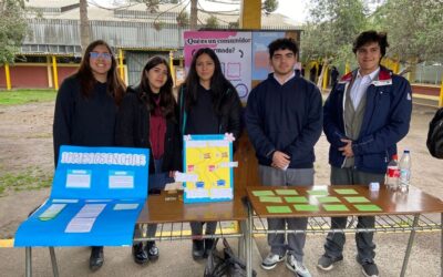
{"type": "Polygon", "coordinates": [[[18,173],[6,173],[0,176],[0,196],[9,191],[30,191],[50,187],[52,185],[52,173],[44,172],[39,167],[29,167],[18,173]]]}

